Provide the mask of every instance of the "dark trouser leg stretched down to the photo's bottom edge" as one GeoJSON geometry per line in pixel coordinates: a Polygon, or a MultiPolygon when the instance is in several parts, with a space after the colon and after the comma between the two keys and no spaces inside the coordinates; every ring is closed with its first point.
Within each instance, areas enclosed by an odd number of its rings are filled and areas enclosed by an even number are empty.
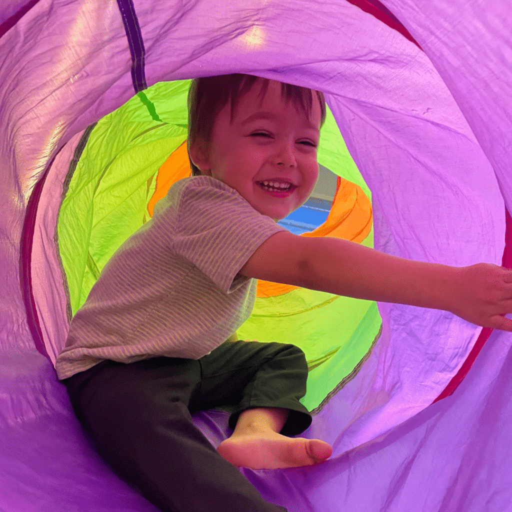
{"type": "Polygon", "coordinates": [[[62,382],[100,455],[163,512],[286,512],[265,501],[196,428],[194,359],[103,361],[62,382]]]}

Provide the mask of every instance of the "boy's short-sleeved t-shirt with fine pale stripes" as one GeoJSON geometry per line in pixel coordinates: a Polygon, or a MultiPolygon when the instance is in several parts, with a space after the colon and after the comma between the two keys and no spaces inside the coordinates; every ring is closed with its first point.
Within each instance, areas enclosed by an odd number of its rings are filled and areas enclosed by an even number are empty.
{"type": "Polygon", "coordinates": [[[210,176],[177,181],[103,268],[71,322],[59,379],[104,359],[199,359],[249,317],[257,280],[238,273],[286,231],[210,176]]]}

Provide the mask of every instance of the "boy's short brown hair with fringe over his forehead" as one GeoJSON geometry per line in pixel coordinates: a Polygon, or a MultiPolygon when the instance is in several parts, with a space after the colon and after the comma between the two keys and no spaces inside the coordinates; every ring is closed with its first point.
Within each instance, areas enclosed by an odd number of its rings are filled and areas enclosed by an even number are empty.
{"type": "MultiPolygon", "coordinates": [[[[258,76],[234,73],[231,75],[206,76],[194,78],[188,89],[188,137],[187,152],[190,168],[193,176],[200,176],[201,171],[190,160],[190,145],[203,144],[209,148],[211,144],[211,132],[215,119],[231,98],[231,123],[234,113],[238,109],[240,98],[242,98],[258,80],[258,76]]],[[[261,78],[263,87],[260,92],[261,101],[265,97],[270,80],[261,78]]],[[[324,94],[315,91],[320,102],[321,122],[324,125],[326,118],[326,104],[324,94]]],[[[295,108],[301,108],[308,116],[313,103],[312,90],[305,87],[293,86],[290,83],[281,83],[281,96],[286,101],[293,101],[295,108]]],[[[261,102],[260,102],[261,105],[261,102]]]]}

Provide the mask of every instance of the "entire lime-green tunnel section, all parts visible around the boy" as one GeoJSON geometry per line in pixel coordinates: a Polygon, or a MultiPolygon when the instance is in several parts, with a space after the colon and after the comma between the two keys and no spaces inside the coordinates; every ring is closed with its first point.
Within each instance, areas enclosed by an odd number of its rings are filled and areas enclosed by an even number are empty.
{"type": "MultiPolygon", "coordinates": [[[[148,220],[159,167],[187,136],[190,80],[159,82],[98,121],[62,202],[58,239],[75,314],[117,248],[148,220]]],[[[318,162],[371,192],[327,108],[318,162]]],[[[70,171],[71,172],[71,171],[70,171]]],[[[373,228],[362,242],[373,247],[373,228]]],[[[313,410],[353,377],[379,334],[376,303],[308,289],[257,298],[240,339],[301,347],[313,410]]]]}

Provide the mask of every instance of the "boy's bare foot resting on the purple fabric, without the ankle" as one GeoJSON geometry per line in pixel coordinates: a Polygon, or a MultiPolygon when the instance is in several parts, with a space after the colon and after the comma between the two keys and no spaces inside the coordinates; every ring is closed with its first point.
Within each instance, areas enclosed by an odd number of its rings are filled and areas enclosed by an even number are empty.
{"type": "Polygon", "coordinates": [[[287,437],[253,426],[222,441],[217,451],[231,464],[253,470],[312,466],[332,455],[332,448],[325,441],[287,437]]]}

